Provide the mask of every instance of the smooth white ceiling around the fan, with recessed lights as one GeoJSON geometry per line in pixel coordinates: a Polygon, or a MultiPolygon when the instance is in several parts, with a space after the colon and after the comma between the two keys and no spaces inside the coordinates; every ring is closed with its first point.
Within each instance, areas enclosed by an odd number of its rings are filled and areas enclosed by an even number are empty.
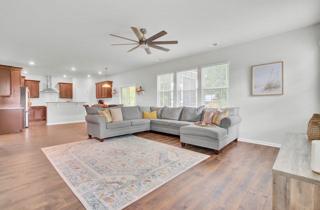
{"type": "Polygon", "coordinates": [[[319,22],[320,0],[1,0],[0,64],[67,77],[104,76],[107,67],[112,75],[319,22]],[[110,45],[131,43],[110,33],[137,40],[130,26],[146,37],[165,30],[156,40],[178,44],[149,55],[110,45]]]}

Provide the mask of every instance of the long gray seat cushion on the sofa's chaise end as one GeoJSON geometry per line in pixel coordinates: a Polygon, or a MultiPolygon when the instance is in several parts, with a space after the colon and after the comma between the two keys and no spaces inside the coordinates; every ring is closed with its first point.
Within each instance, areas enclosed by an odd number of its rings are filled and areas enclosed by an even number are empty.
{"type": "Polygon", "coordinates": [[[227,130],[219,126],[188,125],[180,127],[180,133],[219,139],[227,134],[227,130]]]}

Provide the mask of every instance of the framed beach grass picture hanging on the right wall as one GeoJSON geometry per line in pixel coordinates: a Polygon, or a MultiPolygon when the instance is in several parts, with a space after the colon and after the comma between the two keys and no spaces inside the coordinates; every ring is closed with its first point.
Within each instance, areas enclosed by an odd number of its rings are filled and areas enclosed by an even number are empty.
{"type": "Polygon", "coordinates": [[[252,65],[252,95],[283,95],[283,61],[252,65]]]}

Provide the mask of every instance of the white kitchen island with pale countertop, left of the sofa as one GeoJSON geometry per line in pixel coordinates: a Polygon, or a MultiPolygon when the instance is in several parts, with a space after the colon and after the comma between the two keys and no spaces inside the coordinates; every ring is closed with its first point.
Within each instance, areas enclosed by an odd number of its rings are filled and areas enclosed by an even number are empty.
{"type": "Polygon", "coordinates": [[[85,122],[86,102],[46,102],[46,125],[85,122]]]}

